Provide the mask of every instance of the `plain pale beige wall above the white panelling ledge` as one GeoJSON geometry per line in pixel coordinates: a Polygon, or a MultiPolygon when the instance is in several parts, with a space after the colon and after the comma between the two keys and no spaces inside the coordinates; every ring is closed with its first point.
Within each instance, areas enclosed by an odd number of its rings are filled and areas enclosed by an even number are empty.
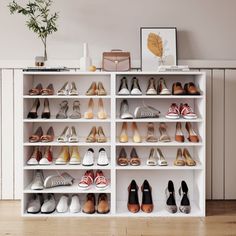
{"type": "MultiPolygon", "coordinates": [[[[10,16],[0,0],[0,60],[32,59],[42,52],[23,16],[10,16]]],[[[18,0],[25,2],[25,0],[18,0]]],[[[140,26],[176,26],[181,59],[236,59],[235,0],[54,0],[59,31],[49,40],[49,58],[77,59],[83,42],[100,58],[111,48],[139,59],[140,26]]]]}

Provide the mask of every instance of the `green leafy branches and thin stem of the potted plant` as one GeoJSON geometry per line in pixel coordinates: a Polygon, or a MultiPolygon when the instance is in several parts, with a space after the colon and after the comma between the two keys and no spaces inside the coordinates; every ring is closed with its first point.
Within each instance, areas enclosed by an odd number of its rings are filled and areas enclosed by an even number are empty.
{"type": "Polygon", "coordinates": [[[10,13],[19,13],[28,18],[26,25],[38,35],[44,46],[44,61],[47,61],[47,38],[57,31],[56,21],[58,13],[50,13],[52,0],[30,0],[25,7],[12,1],[8,5],[10,13]]]}

